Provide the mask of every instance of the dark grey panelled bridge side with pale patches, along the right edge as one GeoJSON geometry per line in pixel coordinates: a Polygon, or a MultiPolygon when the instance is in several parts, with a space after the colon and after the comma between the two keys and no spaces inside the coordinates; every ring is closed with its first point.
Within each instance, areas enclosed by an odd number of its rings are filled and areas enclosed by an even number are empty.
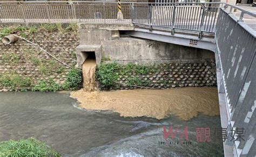
{"type": "MultiPolygon", "coordinates": [[[[242,129],[243,140],[230,142],[237,150],[237,156],[254,156],[255,124],[256,124],[256,31],[241,19],[244,16],[256,17],[252,13],[237,6],[225,5],[220,8],[215,38],[219,51],[226,110],[228,117],[228,133],[237,134],[233,129],[242,129]],[[235,16],[234,9],[240,10],[235,16]]],[[[236,136],[236,135],[235,135],[236,136]]],[[[235,155],[236,156],[236,155],[235,155]]]]}

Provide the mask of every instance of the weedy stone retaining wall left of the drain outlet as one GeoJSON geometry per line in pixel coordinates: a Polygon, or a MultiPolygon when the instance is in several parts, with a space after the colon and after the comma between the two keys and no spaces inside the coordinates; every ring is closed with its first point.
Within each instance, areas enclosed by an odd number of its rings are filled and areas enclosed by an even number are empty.
{"type": "MultiPolygon", "coordinates": [[[[42,25],[0,25],[0,32],[11,28],[18,36],[29,39],[38,44],[62,62],[75,66],[75,49],[79,45],[77,31],[54,28],[55,26],[42,25]],[[19,26],[19,28],[18,28],[19,26]],[[33,26],[33,27],[32,27],[33,26]],[[34,31],[31,31],[31,28],[34,31]],[[35,32],[36,28],[36,32],[35,32]]],[[[52,79],[58,84],[63,84],[69,67],[57,62],[49,54],[40,51],[25,40],[19,39],[16,43],[5,45],[0,41],[0,78],[6,74],[16,74],[22,78],[30,78],[31,86],[39,80],[52,79]]],[[[31,89],[27,87],[27,90],[31,89]]],[[[9,87],[0,84],[0,91],[9,91],[9,87]]]]}

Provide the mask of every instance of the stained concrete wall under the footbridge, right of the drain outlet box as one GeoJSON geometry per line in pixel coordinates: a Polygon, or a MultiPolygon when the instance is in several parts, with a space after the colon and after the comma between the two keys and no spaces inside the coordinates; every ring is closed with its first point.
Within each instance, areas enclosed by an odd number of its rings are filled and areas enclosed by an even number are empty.
{"type": "Polygon", "coordinates": [[[214,59],[214,53],[208,50],[131,37],[102,42],[102,56],[120,63],[214,59]]]}

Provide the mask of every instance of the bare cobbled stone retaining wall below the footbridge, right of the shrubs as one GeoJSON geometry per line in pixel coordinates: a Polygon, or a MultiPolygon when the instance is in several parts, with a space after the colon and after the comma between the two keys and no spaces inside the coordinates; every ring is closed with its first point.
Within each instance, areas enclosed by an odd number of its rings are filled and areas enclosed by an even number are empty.
{"type": "Polygon", "coordinates": [[[113,84],[110,90],[128,90],[139,88],[123,85],[129,84],[129,80],[134,77],[142,80],[143,86],[158,89],[217,85],[214,59],[162,63],[158,67],[159,69],[153,70],[155,72],[150,72],[147,74],[138,74],[133,72],[121,75],[118,78],[118,82],[120,84],[113,84]]]}

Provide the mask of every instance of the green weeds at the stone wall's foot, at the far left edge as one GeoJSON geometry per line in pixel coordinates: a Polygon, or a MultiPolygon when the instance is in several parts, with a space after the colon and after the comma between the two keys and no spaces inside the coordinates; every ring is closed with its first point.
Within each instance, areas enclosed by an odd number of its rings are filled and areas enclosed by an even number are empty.
{"type": "Polygon", "coordinates": [[[0,85],[10,88],[11,91],[25,91],[31,84],[31,78],[19,76],[17,73],[4,73],[0,77],[0,85]]]}

